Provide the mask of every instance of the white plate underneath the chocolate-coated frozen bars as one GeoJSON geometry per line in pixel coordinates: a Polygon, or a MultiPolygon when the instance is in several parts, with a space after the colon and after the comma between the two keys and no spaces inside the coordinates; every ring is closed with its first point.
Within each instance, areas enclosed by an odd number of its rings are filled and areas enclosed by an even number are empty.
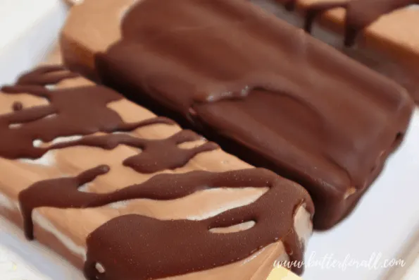
{"type": "MultiPolygon", "coordinates": [[[[0,83],[11,83],[18,73],[42,61],[65,19],[59,0],[0,0],[0,83]]],[[[373,254],[385,259],[404,257],[419,230],[419,110],[401,149],[389,159],[359,206],[331,231],[315,233],[309,242],[306,280],[384,279],[389,269],[337,266],[349,260],[367,261],[373,254]],[[315,254],[315,255],[313,255],[315,254]],[[322,264],[322,260],[324,263],[322,264]]],[[[412,249],[412,248],[411,248],[412,249]]],[[[418,252],[418,248],[415,248],[418,252]]],[[[418,264],[415,266],[418,267],[418,264]]],[[[408,280],[419,279],[418,269],[408,280]]],[[[2,280],[84,280],[82,274],[0,219],[0,275],[2,280]]],[[[390,278],[391,280],[395,278],[390,278]]],[[[395,279],[399,280],[399,278],[395,279]]]]}

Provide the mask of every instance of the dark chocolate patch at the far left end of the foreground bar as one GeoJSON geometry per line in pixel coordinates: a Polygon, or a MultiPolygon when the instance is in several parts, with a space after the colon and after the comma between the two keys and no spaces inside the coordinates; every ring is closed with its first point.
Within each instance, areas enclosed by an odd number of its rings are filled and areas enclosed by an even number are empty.
{"type": "Polygon", "coordinates": [[[162,117],[125,123],[117,112],[106,106],[123,97],[99,85],[59,90],[45,87],[76,76],[75,73],[64,71],[61,66],[45,66],[23,75],[16,85],[2,88],[7,94],[27,93],[44,97],[50,104],[0,116],[1,157],[37,159],[51,150],[34,147],[34,140],[50,142],[58,137],[127,132],[156,123],[175,124],[162,117]]]}

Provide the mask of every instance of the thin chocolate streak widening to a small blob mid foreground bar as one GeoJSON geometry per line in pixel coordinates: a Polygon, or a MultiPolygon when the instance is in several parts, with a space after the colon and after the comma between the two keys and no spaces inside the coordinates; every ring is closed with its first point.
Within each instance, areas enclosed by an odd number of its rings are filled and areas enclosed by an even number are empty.
{"type": "Polygon", "coordinates": [[[178,145],[202,139],[201,136],[191,130],[181,130],[170,138],[162,140],[148,140],[136,138],[127,134],[113,134],[100,136],[87,136],[81,140],[59,143],[52,145],[46,150],[59,149],[72,146],[101,147],[113,150],[118,145],[128,145],[142,150],[138,155],[124,160],[123,164],[141,173],[154,173],[165,169],[176,169],[185,166],[190,159],[201,152],[218,149],[214,142],[206,142],[204,145],[192,149],[182,149],[178,145]]]}

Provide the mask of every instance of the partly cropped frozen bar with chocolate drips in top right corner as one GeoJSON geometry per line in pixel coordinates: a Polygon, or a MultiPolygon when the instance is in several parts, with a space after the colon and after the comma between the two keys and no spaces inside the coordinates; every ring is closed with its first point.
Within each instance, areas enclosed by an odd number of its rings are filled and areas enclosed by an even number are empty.
{"type": "MultiPolygon", "coordinates": [[[[282,0],[275,1],[284,4],[282,0]]],[[[308,32],[311,32],[313,23],[320,22],[326,28],[342,33],[346,47],[358,43],[361,49],[387,58],[387,64],[399,64],[399,68],[380,66],[377,71],[406,83],[419,102],[418,0],[294,0],[294,6],[304,14],[304,28],[308,32]],[[395,70],[389,68],[396,68],[403,74],[394,73],[395,70]],[[407,76],[408,80],[399,75],[407,76]]]]}

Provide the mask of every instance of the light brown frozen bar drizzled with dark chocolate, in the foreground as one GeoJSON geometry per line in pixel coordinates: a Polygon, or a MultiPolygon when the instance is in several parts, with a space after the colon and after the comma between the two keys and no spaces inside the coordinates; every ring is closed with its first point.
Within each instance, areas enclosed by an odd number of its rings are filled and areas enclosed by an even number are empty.
{"type": "Polygon", "coordinates": [[[302,260],[300,185],[61,66],[2,91],[0,212],[87,279],[265,280],[302,260]]]}

